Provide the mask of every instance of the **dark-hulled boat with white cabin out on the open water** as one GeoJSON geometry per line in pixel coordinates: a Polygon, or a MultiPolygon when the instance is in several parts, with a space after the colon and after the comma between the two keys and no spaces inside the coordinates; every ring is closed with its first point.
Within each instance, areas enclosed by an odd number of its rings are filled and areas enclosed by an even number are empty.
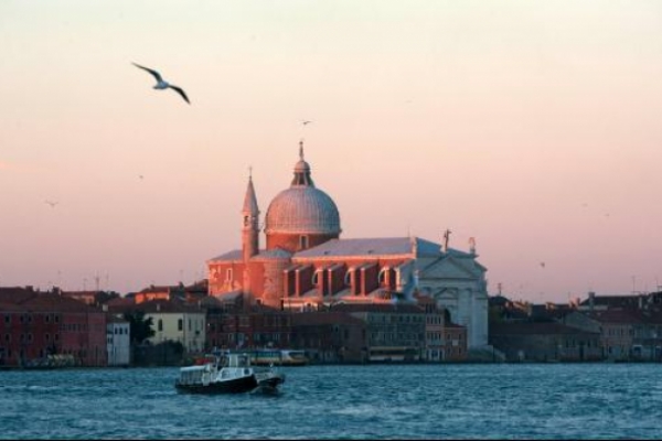
{"type": "Polygon", "coordinates": [[[192,394],[241,394],[277,391],[285,375],[273,367],[256,367],[247,353],[206,357],[202,364],[180,368],[174,386],[192,394]]]}

